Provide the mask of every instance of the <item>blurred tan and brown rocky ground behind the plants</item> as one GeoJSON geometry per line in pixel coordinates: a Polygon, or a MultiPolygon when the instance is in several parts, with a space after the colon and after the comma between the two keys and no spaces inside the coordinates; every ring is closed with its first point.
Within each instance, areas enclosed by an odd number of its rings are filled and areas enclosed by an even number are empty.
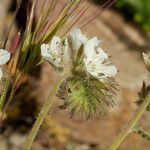
{"type": "MultiPolygon", "coordinates": [[[[99,6],[92,5],[89,13],[93,13],[96,7],[99,6]]],[[[1,39],[3,39],[5,24],[9,22],[6,8],[7,4],[2,0],[0,3],[0,20],[3,20],[0,22],[1,39]]],[[[57,100],[46,119],[46,125],[42,127],[34,142],[33,150],[107,150],[121,127],[130,120],[136,110],[135,101],[138,99],[137,92],[142,86],[142,81],[149,82],[141,51],[149,50],[150,35],[114,10],[105,11],[85,29],[85,32],[102,39],[102,47],[112,56],[113,62],[120,70],[116,77],[119,83],[116,107],[105,117],[81,121],[70,119],[67,112],[58,110],[60,101],[57,100]]],[[[40,79],[32,79],[29,83],[30,89],[33,89],[30,99],[33,100],[34,97],[38,104],[42,104],[54,83],[55,72],[46,63],[43,64],[40,79]]],[[[140,122],[144,129],[150,132],[148,112],[144,113],[140,122]]],[[[20,150],[29,126],[27,129],[24,128],[25,125],[22,125],[14,130],[11,124],[8,125],[8,129],[0,136],[0,150],[20,150]]],[[[148,141],[131,134],[119,150],[149,150],[149,147],[148,141]]]]}

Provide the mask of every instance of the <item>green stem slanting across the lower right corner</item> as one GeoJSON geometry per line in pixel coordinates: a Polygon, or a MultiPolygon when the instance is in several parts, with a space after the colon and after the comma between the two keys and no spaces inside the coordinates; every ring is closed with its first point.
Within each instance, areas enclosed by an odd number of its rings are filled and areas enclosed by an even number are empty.
{"type": "Polygon", "coordinates": [[[136,125],[142,114],[144,113],[145,109],[150,103],[150,94],[147,95],[143,103],[138,108],[137,112],[134,114],[133,118],[130,120],[130,122],[127,124],[126,128],[123,129],[123,131],[120,133],[118,138],[114,141],[114,143],[111,145],[109,150],[116,150],[120,144],[125,140],[127,135],[131,133],[133,127],[136,125]]]}

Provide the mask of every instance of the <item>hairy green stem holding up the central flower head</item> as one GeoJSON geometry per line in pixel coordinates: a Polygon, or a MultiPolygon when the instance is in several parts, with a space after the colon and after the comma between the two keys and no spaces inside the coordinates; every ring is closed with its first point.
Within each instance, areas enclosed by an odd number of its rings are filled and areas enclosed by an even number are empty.
{"type": "Polygon", "coordinates": [[[39,128],[41,126],[41,124],[43,123],[52,103],[53,103],[53,100],[54,100],[54,96],[56,94],[56,92],[58,91],[59,89],[59,86],[61,85],[62,81],[63,81],[63,76],[61,76],[57,83],[54,85],[47,101],[45,102],[45,104],[43,105],[42,109],[41,109],[41,112],[39,114],[39,116],[37,117],[37,120],[35,121],[33,127],[32,127],[32,130],[29,134],[29,137],[27,138],[25,144],[24,144],[24,147],[23,147],[23,150],[30,150],[31,146],[32,146],[32,143],[39,131],[39,128]]]}

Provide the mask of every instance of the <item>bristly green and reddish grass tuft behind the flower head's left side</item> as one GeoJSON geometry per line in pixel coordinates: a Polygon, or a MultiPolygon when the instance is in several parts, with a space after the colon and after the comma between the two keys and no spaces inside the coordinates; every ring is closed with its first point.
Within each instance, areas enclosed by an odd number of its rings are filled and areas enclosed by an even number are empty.
{"type": "Polygon", "coordinates": [[[50,3],[47,8],[47,3],[44,3],[43,7],[40,9],[38,15],[38,20],[33,23],[33,18],[35,16],[35,5],[36,0],[32,4],[32,9],[30,16],[27,21],[27,27],[21,38],[21,46],[18,57],[17,67],[23,73],[30,73],[37,65],[41,63],[40,46],[43,43],[48,43],[51,41],[54,35],[59,31],[63,30],[63,27],[71,22],[71,17],[77,13],[76,7],[81,3],[81,0],[69,1],[65,7],[59,12],[53,21],[49,19],[51,15],[55,12],[53,10],[54,6],[57,5],[56,1],[50,3]],[[44,9],[45,8],[45,9],[44,9]],[[47,8],[47,9],[46,9],[47,8]]]}

